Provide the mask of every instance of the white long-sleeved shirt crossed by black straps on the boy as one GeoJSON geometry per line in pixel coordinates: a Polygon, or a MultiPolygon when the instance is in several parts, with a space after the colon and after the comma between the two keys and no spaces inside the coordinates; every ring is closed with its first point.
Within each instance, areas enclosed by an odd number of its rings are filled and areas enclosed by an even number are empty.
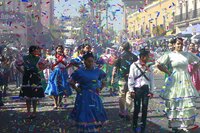
{"type": "MultiPolygon", "coordinates": [[[[140,61],[135,62],[138,67],[142,70],[146,70],[146,66],[142,66],[140,64],[140,61]]],[[[149,81],[143,76],[139,77],[135,80],[136,77],[138,77],[141,74],[140,70],[135,66],[134,63],[131,64],[130,71],[129,71],[129,78],[128,78],[128,89],[130,92],[134,92],[134,87],[140,88],[143,85],[148,85],[150,88],[150,92],[154,89],[154,76],[153,76],[153,68],[152,66],[149,67],[146,70],[146,77],[149,79],[149,81]]]]}

